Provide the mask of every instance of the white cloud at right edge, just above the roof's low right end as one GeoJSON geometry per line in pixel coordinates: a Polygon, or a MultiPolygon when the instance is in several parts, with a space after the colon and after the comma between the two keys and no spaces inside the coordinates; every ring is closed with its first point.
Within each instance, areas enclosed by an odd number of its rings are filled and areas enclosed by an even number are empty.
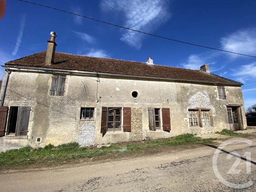
{"type": "Polygon", "coordinates": [[[253,80],[256,79],[256,62],[251,64],[242,65],[240,68],[233,70],[233,76],[236,76],[237,80],[245,83],[246,80],[253,80]]]}

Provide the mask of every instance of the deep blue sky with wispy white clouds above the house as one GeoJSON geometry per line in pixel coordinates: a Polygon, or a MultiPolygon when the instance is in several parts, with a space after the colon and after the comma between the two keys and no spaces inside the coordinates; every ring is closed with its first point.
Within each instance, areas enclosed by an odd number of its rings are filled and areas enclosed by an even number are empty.
{"type": "MultiPolygon", "coordinates": [[[[99,20],[256,56],[255,0],[31,0],[99,20]]],[[[40,52],[55,31],[56,51],[199,69],[244,83],[245,107],[256,104],[256,58],[180,44],[56,10],[7,0],[0,36],[40,52]]],[[[32,54],[0,41],[0,64],[32,54]]],[[[2,77],[3,68],[1,68],[2,77]]]]}

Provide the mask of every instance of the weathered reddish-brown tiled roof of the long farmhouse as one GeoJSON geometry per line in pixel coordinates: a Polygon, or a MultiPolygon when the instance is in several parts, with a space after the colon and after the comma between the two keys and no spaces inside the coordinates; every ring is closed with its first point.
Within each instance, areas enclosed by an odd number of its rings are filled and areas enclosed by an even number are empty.
{"type": "Polygon", "coordinates": [[[148,65],[146,62],[135,62],[112,58],[97,58],[90,56],[56,52],[54,64],[45,66],[46,51],[38,52],[17,60],[9,61],[6,65],[43,67],[54,69],[80,70],[98,73],[123,74],[134,76],[147,76],[157,78],[170,78],[174,80],[198,81],[230,86],[241,86],[236,82],[215,74],[208,74],[200,70],[191,70],[178,67],[148,65]]]}

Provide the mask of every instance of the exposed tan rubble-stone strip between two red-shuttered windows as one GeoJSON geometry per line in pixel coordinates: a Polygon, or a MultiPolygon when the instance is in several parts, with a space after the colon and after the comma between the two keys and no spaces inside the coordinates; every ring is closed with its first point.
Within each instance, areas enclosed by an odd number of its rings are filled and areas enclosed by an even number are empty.
{"type": "Polygon", "coordinates": [[[131,108],[131,126],[130,141],[142,140],[142,108],[131,108]]]}

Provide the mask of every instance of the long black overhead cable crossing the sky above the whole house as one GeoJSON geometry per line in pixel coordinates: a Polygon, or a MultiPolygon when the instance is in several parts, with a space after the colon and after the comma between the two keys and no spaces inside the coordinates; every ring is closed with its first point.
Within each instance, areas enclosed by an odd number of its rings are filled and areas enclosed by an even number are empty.
{"type": "Polygon", "coordinates": [[[164,36],[159,36],[159,35],[143,32],[143,31],[135,30],[135,29],[132,29],[132,28],[128,28],[128,27],[117,25],[117,24],[113,24],[113,23],[110,23],[110,22],[94,19],[92,17],[84,16],[84,15],[81,15],[81,14],[76,14],[76,13],[73,13],[73,12],[70,12],[70,11],[54,8],[54,7],[51,7],[51,6],[46,6],[46,5],[42,5],[42,4],[30,2],[30,1],[25,1],[25,0],[18,0],[18,1],[25,2],[25,3],[30,3],[30,4],[37,5],[37,6],[42,6],[42,7],[45,7],[45,8],[54,9],[54,10],[57,10],[57,11],[65,12],[65,13],[76,15],[76,16],[80,16],[80,17],[83,17],[83,18],[86,18],[86,19],[90,19],[90,20],[94,20],[94,21],[97,21],[97,22],[101,22],[101,23],[104,23],[104,24],[116,26],[116,27],[119,27],[119,28],[131,30],[131,31],[134,31],[134,32],[138,32],[138,33],[142,33],[142,34],[146,34],[146,35],[150,35],[150,36],[154,36],[154,37],[158,37],[158,38],[162,38],[162,39],[166,39],[166,40],[171,40],[171,41],[175,41],[175,42],[179,42],[179,43],[183,43],[183,44],[188,44],[188,45],[203,47],[203,48],[207,48],[207,49],[218,50],[218,51],[223,51],[223,52],[228,52],[228,53],[233,53],[233,54],[238,54],[238,55],[243,55],[243,56],[248,56],[248,57],[256,58],[256,56],[252,56],[252,55],[246,55],[246,54],[242,54],[242,53],[236,53],[236,52],[232,52],[232,51],[227,51],[227,50],[212,48],[212,47],[208,47],[208,46],[193,44],[193,43],[189,43],[189,42],[185,42],[185,41],[180,41],[180,40],[176,40],[176,39],[172,39],[172,38],[167,38],[167,37],[164,37],[164,36]]]}

